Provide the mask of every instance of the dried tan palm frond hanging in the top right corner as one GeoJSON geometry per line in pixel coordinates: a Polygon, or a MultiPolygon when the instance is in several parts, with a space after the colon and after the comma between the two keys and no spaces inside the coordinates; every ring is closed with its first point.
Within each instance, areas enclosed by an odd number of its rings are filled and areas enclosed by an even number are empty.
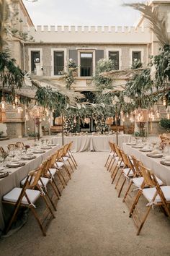
{"type": "Polygon", "coordinates": [[[126,7],[133,7],[133,9],[138,10],[143,14],[143,17],[149,21],[151,26],[151,30],[156,35],[158,40],[161,43],[161,46],[169,45],[170,38],[167,33],[166,27],[166,17],[159,17],[158,16],[158,7],[151,7],[146,4],[123,4],[126,7]]]}

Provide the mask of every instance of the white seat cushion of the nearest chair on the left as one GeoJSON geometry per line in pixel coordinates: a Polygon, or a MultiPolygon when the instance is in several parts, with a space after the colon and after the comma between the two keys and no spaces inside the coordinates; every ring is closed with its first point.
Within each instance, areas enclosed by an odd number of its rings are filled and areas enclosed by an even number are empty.
{"type": "MultiPolygon", "coordinates": [[[[4,195],[3,200],[7,202],[17,202],[19,195],[22,192],[22,188],[14,187],[9,193],[4,195]]],[[[40,197],[40,191],[39,190],[33,190],[33,189],[26,189],[27,197],[30,199],[30,202],[34,203],[38,197],[40,197]]],[[[27,198],[24,196],[22,198],[22,204],[23,205],[29,205],[29,202],[27,202],[27,198]]]]}

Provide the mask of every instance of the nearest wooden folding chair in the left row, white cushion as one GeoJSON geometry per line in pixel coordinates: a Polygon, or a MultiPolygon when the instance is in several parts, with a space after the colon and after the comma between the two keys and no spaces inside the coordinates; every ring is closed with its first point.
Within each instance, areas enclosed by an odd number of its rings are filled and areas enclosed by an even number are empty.
{"type": "Polygon", "coordinates": [[[14,205],[14,212],[12,214],[11,220],[6,226],[6,229],[4,231],[5,234],[9,231],[9,229],[12,227],[12,223],[16,220],[19,208],[23,207],[23,208],[30,208],[31,212],[35,216],[35,219],[38,225],[40,226],[43,236],[46,236],[45,227],[43,226],[43,224],[45,223],[49,214],[53,218],[55,218],[55,216],[53,214],[53,211],[50,208],[50,205],[48,203],[48,199],[46,198],[45,193],[42,192],[42,189],[38,184],[41,174],[42,174],[42,166],[40,166],[40,168],[37,168],[37,170],[35,171],[30,171],[30,173],[27,176],[27,179],[25,180],[24,186],[22,188],[14,187],[14,189],[12,189],[10,192],[8,192],[6,195],[3,196],[2,202],[4,204],[14,205]],[[33,182],[32,182],[32,179],[33,179],[33,182]],[[41,216],[44,219],[41,219],[35,211],[35,208],[36,208],[35,202],[37,202],[37,200],[40,197],[42,197],[46,205],[44,213],[41,214],[41,216]],[[45,215],[47,210],[48,210],[48,214],[45,215]]]}

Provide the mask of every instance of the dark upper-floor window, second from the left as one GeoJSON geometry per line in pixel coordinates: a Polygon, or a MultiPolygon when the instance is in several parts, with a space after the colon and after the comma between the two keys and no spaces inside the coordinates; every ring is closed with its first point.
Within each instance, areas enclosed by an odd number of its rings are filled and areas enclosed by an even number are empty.
{"type": "Polygon", "coordinates": [[[61,74],[64,69],[64,51],[54,51],[54,75],[61,74]]]}

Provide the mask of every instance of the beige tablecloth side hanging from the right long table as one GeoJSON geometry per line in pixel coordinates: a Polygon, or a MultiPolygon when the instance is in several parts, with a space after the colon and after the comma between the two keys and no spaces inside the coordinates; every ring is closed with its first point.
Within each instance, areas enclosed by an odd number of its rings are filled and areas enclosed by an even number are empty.
{"type": "Polygon", "coordinates": [[[146,152],[141,152],[137,148],[132,148],[132,146],[126,145],[126,143],[123,143],[122,149],[125,153],[128,153],[128,155],[134,155],[144,166],[150,168],[166,185],[170,185],[170,166],[162,165],[160,163],[162,160],[161,158],[150,158],[146,155],[146,152]]]}

